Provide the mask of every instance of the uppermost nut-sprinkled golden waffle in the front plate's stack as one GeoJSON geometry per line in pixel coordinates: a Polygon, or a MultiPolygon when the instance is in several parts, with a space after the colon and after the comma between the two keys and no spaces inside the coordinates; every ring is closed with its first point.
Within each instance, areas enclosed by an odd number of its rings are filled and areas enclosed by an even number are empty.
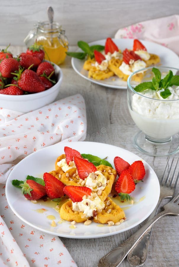
{"type": "MultiPolygon", "coordinates": [[[[111,188],[116,179],[117,173],[115,169],[105,165],[99,165],[96,167],[96,169],[97,171],[101,171],[107,179],[107,185],[104,190],[101,190],[101,195],[99,195],[100,192],[97,192],[97,195],[99,196],[101,201],[104,201],[111,192],[111,188]]],[[[62,174],[61,181],[65,185],[85,186],[85,180],[80,179],[79,176],[76,175],[75,168],[70,169],[62,174]]]]}

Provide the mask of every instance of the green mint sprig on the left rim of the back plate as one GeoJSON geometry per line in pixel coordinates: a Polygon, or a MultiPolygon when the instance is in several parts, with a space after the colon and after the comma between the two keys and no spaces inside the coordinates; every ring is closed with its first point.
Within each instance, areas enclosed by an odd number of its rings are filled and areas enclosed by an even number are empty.
{"type": "Polygon", "coordinates": [[[67,55],[73,58],[78,58],[78,59],[84,59],[86,55],[88,55],[90,58],[94,57],[94,50],[97,50],[101,52],[104,50],[103,45],[91,45],[89,46],[88,43],[84,41],[78,41],[78,47],[81,48],[84,52],[66,52],[67,55]]]}

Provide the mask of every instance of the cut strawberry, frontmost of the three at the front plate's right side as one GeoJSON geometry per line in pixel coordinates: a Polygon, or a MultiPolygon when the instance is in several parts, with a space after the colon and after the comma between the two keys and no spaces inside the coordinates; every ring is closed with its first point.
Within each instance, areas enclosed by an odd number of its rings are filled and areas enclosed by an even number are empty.
{"type": "Polygon", "coordinates": [[[117,193],[130,194],[136,185],[131,173],[126,169],[123,170],[115,184],[115,190],[117,193]]]}

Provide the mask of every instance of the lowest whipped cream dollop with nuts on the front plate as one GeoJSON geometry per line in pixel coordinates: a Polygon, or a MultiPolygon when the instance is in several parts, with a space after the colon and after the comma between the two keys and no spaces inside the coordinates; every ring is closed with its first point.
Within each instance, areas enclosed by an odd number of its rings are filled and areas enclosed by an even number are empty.
{"type": "Polygon", "coordinates": [[[99,196],[83,199],[81,202],[72,202],[72,210],[83,212],[85,217],[92,217],[93,211],[97,209],[104,209],[105,204],[101,201],[99,196]]]}

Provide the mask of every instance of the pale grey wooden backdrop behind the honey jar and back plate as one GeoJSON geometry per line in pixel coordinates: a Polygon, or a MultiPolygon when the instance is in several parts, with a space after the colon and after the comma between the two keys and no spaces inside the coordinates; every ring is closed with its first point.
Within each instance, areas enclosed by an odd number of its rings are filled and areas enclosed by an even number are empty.
{"type": "Polygon", "coordinates": [[[66,29],[70,45],[114,37],[121,27],[179,13],[178,0],[0,0],[0,43],[23,45],[33,25],[48,20],[48,6],[66,29]]]}

